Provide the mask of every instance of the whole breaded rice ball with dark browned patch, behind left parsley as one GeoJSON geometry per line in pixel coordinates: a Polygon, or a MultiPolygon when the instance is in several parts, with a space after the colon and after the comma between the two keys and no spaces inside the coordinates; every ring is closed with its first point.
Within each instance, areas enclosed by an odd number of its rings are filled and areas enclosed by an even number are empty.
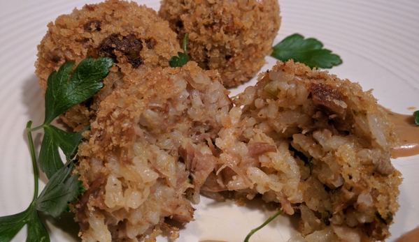
{"type": "Polygon", "coordinates": [[[108,0],[85,5],[48,24],[48,32],[38,45],[36,75],[45,91],[48,75],[66,61],[78,65],[89,56],[115,59],[111,73],[103,80],[104,89],[62,116],[69,126],[81,130],[115,87],[135,82],[143,71],[169,66],[169,59],[178,51],[176,33],[155,10],[134,1],[108,0]]]}

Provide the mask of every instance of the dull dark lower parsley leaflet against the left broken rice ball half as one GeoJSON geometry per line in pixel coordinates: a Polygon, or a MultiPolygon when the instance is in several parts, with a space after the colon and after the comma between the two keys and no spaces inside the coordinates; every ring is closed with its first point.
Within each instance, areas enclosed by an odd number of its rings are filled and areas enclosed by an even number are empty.
{"type": "Polygon", "coordinates": [[[74,165],[74,162],[65,165],[50,178],[35,200],[38,211],[48,212],[58,218],[62,213],[70,211],[69,203],[75,202],[85,192],[83,182],[78,180],[80,175],[71,176],[74,165]]]}

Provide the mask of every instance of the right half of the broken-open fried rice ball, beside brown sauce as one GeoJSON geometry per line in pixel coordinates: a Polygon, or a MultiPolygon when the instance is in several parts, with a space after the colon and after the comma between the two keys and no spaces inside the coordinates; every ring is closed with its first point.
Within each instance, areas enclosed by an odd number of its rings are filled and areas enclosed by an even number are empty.
{"type": "Polygon", "coordinates": [[[202,191],[279,202],[301,215],[308,242],[388,238],[402,181],[390,161],[398,139],[371,91],[288,61],[233,101],[202,191]]]}

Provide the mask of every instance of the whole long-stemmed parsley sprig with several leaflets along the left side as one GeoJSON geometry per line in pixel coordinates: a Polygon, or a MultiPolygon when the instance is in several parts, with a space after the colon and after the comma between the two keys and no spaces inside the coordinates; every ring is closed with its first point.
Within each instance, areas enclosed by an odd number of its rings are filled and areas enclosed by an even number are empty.
{"type": "Polygon", "coordinates": [[[69,211],[69,203],[75,202],[85,191],[83,182],[78,180],[80,175],[71,175],[71,172],[76,165],[73,159],[78,144],[83,139],[82,133],[88,127],[79,133],[67,133],[50,123],[60,114],[97,93],[104,86],[99,80],[108,75],[113,60],[108,57],[101,57],[97,61],[92,58],[85,59],[69,79],[73,66],[74,62],[64,63],[58,72],[53,72],[48,77],[43,125],[31,128],[32,121],[27,123],[26,132],[34,169],[34,197],[25,211],[0,217],[0,242],[13,239],[24,225],[28,225],[27,241],[50,241],[48,231],[38,217],[38,211],[45,211],[58,218],[62,213],[69,211]],[[31,132],[40,128],[44,129],[45,135],[38,165],[50,180],[38,195],[38,167],[31,132]],[[66,164],[59,157],[58,148],[61,148],[66,156],[66,164]]]}

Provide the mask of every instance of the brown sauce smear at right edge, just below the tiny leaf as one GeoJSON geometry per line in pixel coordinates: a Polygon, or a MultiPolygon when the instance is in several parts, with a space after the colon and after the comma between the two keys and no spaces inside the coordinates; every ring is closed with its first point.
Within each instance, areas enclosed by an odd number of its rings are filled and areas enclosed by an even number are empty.
{"type": "Polygon", "coordinates": [[[400,146],[395,147],[397,157],[415,156],[419,154],[419,126],[415,124],[413,115],[397,114],[385,109],[390,121],[395,123],[395,133],[399,136],[400,146]]]}

